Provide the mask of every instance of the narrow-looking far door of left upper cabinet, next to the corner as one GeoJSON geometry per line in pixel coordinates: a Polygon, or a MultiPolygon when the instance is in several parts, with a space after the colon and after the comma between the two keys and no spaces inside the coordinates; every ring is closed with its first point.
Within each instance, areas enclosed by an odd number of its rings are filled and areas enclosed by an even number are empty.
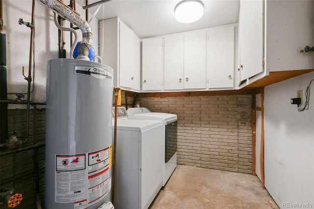
{"type": "Polygon", "coordinates": [[[141,82],[141,39],[137,37],[137,35],[133,35],[133,76],[131,77],[132,85],[131,88],[135,90],[140,90],[140,82],[141,82]]]}

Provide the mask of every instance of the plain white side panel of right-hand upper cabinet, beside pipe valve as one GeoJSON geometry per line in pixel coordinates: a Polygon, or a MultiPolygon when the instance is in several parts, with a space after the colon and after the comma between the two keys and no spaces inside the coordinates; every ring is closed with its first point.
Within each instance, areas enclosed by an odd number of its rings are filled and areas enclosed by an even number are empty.
{"type": "Polygon", "coordinates": [[[314,69],[313,0],[267,0],[266,69],[269,72],[314,69]]]}

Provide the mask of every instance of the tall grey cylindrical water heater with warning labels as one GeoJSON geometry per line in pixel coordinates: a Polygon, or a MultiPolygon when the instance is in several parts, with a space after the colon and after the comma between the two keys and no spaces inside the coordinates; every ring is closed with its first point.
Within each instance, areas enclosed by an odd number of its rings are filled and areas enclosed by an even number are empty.
{"type": "Polygon", "coordinates": [[[112,76],[96,62],[48,61],[47,209],[97,209],[111,201],[112,76]]]}

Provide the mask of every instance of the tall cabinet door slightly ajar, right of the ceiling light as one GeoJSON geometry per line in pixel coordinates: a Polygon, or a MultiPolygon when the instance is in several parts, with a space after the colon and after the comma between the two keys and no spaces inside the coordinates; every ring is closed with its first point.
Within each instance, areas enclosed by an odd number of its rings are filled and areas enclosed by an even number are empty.
{"type": "Polygon", "coordinates": [[[263,1],[240,0],[240,78],[263,71],[263,1]]]}

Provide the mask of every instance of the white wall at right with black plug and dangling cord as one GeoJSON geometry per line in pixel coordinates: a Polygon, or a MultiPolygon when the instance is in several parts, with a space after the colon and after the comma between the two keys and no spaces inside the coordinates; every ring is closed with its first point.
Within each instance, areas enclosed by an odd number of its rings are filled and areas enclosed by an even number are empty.
{"type": "Polygon", "coordinates": [[[314,207],[314,100],[304,112],[290,104],[311,79],[314,72],[264,88],[265,187],[280,208],[288,203],[314,207]]]}

